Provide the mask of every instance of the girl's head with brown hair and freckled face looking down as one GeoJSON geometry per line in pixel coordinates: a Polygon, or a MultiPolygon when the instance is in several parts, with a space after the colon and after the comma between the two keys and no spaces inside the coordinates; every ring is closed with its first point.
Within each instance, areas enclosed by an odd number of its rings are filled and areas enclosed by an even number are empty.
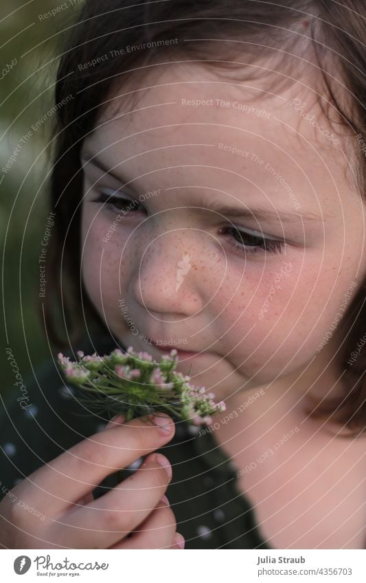
{"type": "Polygon", "coordinates": [[[363,424],[366,52],[351,8],[366,16],[351,0],[87,0],[56,86],[53,267],[67,307],[81,274],[87,325],[157,358],[149,339],[203,351],[180,369],[218,396],[325,369],[330,389],[347,369],[343,422],[363,424]]]}

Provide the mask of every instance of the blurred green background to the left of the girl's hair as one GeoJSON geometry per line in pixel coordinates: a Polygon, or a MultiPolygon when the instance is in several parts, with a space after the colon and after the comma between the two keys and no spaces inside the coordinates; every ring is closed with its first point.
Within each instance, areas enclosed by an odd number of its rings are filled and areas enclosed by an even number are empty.
{"type": "MultiPolygon", "coordinates": [[[[26,378],[51,356],[38,316],[41,241],[46,229],[49,140],[60,43],[82,3],[76,0],[17,2],[0,8],[0,238],[2,259],[1,393],[14,383],[5,352],[10,347],[26,378]],[[54,14],[47,14],[51,10],[54,14]],[[47,14],[47,16],[45,16],[47,14]],[[45,121],[37,124],[43,117],[45,121]],[[16,150],[16,155],[14,155],[16,150]],[[3,171],[10,157],[7,172],[3,171]],[[46,181],[45,181],[46,179],[46,181]]],[[[47,277],[46,277],[47,279],[47,277]]]]}

